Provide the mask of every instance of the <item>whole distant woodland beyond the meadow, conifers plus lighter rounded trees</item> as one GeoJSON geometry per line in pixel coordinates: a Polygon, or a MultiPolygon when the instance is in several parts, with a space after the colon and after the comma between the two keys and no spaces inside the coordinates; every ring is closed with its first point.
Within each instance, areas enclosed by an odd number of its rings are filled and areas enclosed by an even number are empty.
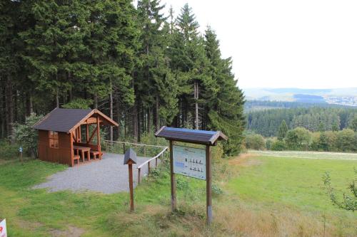
{"type": "Polygon", "coordinates": [[[289,103],[250,105],[246,115],[246,148],[357,152],[357,108],[295,107],[289,103]],[[267,109],[273,105],[292,107],[267,109]]]}

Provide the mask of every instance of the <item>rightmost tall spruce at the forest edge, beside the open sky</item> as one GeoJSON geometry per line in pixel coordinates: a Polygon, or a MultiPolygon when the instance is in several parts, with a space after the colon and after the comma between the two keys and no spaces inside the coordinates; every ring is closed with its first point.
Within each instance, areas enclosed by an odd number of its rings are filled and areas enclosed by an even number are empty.
{"type": "Polygon", "coordinates": [[[207,127],[221,130],[226,134],[229,139],[223,144],[224,151],[226,154],[237,154],[240,151],[245,127],[243,93],[236,86],[237,81],[231,73],[231,58],[221,58],[216,33],[211,28],[207,28],[205,38],[206,56],[210,62],[209,73],[218,85],[217,92],[213,93],[216,96],[208,100],[206,107],[207,127]]]}

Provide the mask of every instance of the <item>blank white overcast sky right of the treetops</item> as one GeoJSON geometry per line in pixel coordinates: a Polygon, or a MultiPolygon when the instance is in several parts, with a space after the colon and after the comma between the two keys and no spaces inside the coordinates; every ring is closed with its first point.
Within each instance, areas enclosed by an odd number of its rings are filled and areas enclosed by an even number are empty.
{"type": "Polygon", "coordinates": [[[357,88],[357,1],[161,0],[188,3],[217,33],[240,88],[357,88]]]}

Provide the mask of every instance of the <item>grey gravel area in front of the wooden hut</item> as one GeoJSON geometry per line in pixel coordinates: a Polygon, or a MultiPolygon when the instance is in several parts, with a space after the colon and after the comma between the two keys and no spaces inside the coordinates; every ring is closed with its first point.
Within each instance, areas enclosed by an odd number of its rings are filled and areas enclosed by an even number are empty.
{"type": "MultiPolygon", "coordinates": [[[[138,157],[137,164],[142,164],[149,158],[138,157]]],[[[160,159],[158,160],[158,162],[160,159]]],[[[99,161],[69,167],[64,172],[53,174],[49,180],[34,186],[35,189],[48,188],[49,191],[99,191],[104,194],[114,194],[119,191],[129,191],[128,166],[123,164],[123,154],[106,153],[99,161]]],[[[151,167],[155,166],[152,162],[151,167]]],[[[138,179],[137,164],[133,165],[134,187],[138,179]]],[[[148,166],[141,169],[141,175],[148,173],[148,166]]]]}

